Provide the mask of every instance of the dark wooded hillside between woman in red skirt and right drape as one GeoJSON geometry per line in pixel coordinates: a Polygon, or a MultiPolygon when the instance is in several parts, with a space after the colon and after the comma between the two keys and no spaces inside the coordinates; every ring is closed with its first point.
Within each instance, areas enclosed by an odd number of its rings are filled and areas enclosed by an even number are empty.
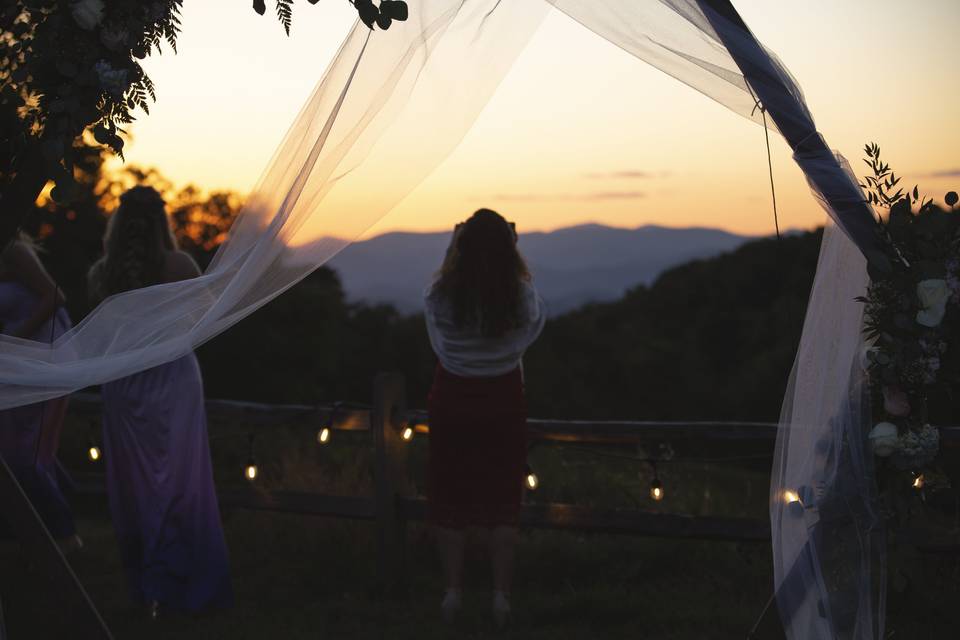
{"type": "Polygon", "coordinates": [[[758,240],[551,319],[524,359],[531,414],[776,420],[819,243],[758,240]]]}

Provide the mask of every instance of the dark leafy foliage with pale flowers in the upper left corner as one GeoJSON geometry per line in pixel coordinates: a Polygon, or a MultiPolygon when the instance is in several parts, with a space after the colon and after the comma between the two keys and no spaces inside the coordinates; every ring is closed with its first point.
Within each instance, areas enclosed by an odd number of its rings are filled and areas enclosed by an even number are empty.
{"type": "Polygon", "coordinates": [[[0,10],[0,184],[32,144],[42,148],[54,197],[75,187],[74,140],[91,128],[123,154],[123,127],[149,109],[156,88],[140,60],[176,50],[182,0],[16,0],[0,10]]]}

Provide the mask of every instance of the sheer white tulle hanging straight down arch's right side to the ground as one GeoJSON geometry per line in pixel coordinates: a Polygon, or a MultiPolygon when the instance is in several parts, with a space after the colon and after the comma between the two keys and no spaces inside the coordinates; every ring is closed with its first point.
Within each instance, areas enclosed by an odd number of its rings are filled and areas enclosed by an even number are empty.
{"type": "Polygon", "coordinates": [[[856,300],[869,281],[866,267],[853,242],[828,224],[770,482],[776,597],[792,640],[883,637],[885,528],[866,439],[867,345],[856,300]]]}

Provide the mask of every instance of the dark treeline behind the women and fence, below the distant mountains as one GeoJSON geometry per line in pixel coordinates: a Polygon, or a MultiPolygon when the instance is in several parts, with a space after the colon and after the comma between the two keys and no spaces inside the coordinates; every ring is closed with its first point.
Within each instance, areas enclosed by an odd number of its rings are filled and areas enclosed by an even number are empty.
{"type": "MultiPolygon", "coordinates": [[[[68,297],[88,311],[84,274],[100,255],[106,212],[134,183],[166,197],[181,246],[203,266],[240,207],[235,194],[174,189],[155,171],[105,177],[86,148],[81,196],[43,204],[28,231],[68,297]]],[[[803,325],[820,234],[751,242],[663,273],[621,300],[551,319],[525,359],[531,415],[563,418],[771,420],[803,325]]],[[[320,268],[198,355],[207,394],[265,402],[364,401],[378,371],[407,376],[423,407],[435,359],[421,316],[349,303],[320,268]]]]}

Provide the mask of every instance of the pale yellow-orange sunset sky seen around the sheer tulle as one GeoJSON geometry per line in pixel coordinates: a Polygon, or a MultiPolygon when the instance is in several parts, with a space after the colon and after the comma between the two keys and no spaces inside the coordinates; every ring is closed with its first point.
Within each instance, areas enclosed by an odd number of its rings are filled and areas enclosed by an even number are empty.
{"type": "MultiPolygon", "coordinates": [[[[408,0],[416,2],[416,0],[408,0]]],[[[153,56],[158,101],[127,162],[174,183],[249,191],[355,12],[295,5],[289,37],[249,2],[186,2],[179,53],[153,56]]],[[[736,0],[854,163],[876,141],[910,185],[960,188],[960,2],[736,0]]],[[[781,227],[824,214],[773,142],[781,227]]],[[[763,130],[554,12],[463,143],[371,230],[448,228],[488,206],[521,230],[584,222],[773,231],[763,130]]]]}

